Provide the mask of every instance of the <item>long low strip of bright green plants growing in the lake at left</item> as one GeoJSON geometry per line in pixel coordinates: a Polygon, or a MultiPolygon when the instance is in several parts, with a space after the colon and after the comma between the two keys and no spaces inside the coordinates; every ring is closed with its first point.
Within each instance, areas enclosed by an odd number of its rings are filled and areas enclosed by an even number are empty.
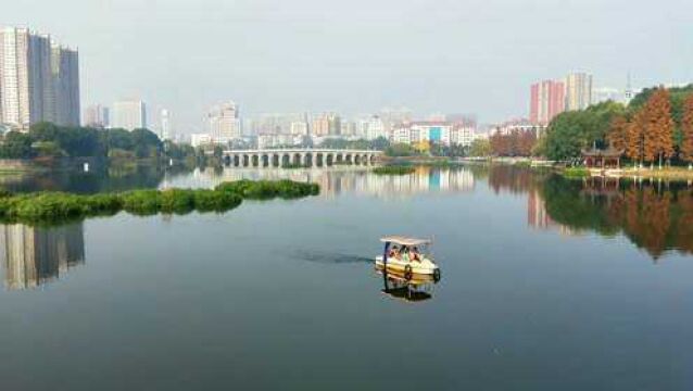
{"type": "Polygon", "coordinates": [[[243,199],[297,199],[316,195],[319,187],[291,180],[224,182],[214,190],[169,189],[133,190],[121,193],[79,195],[64,192],[11,194],[0,191],[0,220],[5,223],[60,223],[91,216],[114,215],[126,211],[134,215],[158,213],[186,214],[192,211],[225,212],[243,199]]]}

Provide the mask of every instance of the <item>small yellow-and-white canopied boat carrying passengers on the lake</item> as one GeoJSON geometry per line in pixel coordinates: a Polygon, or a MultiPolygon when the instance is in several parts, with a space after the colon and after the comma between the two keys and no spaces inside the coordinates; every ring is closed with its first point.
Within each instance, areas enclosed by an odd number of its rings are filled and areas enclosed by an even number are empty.
{"type": "Polygon", "coordinates": [[[376,269],[406,280],[440,280],[440,267],[433,262],[430,239],[388,236],[380,241],[385,243],[385,250],[382,255],[376,256],[376,269]]]}

